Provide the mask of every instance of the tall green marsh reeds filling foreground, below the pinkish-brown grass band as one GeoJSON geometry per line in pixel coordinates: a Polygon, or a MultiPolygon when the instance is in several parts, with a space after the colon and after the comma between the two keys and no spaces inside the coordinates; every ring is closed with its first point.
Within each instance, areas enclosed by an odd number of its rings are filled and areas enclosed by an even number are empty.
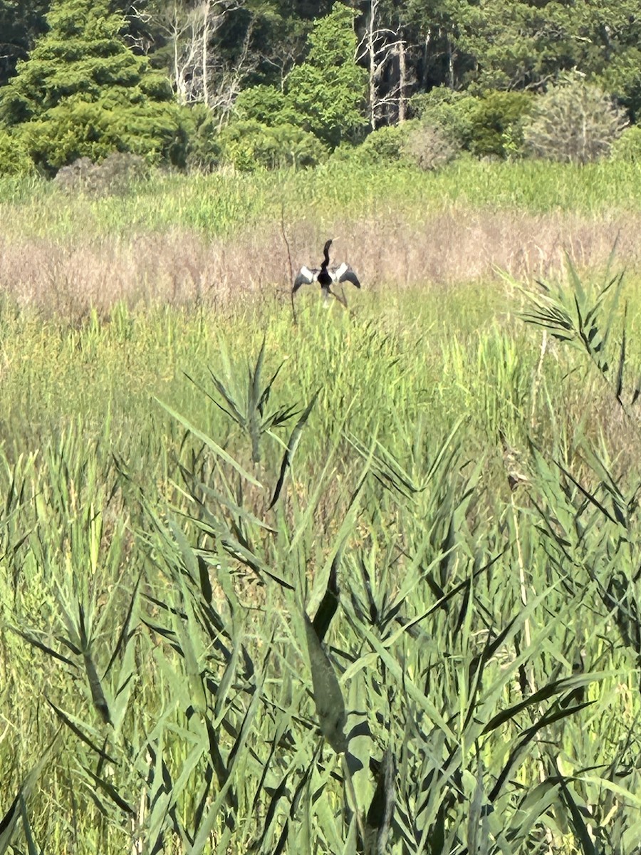
{"type": "Polygon", "coordinates": [[[224,325],[5,306],[12,839],[634,851],[616,389],[610,412],[580,351],[542,360],[516,301],[448,299],[438,325],[404,294],[380,314],[310,302],[297,327],[279,304],[224,325]]]}

